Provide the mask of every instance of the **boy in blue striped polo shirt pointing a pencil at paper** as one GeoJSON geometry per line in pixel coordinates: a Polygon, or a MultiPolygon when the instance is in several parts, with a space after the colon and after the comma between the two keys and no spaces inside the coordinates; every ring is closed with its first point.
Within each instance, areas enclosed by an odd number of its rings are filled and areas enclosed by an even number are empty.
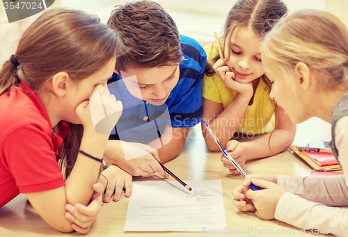
{"type": "Polygon", "coordinates": [[[125,53],[117,58],[116,73],[108,81],[110,92],[122,101],[123,112],[104,155],[117,165],[113,172],[107,169],[105,202],[114,183],[113,200],[118,201],[123,187],[126,197],[130,195],[132,179],[122,170],[133,176],[157,172],[168,177],[159,162],[180,154],[189,128],[202,119],[207,59],[196,40],[179,35],[158,3],[117,6],[108,25],[120,36],[125,53]]]}

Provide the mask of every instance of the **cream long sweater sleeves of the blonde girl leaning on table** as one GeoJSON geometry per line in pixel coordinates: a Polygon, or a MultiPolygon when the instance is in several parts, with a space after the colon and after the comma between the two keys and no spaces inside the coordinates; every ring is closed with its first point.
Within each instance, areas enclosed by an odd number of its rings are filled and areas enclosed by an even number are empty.
{"type": "MultiPolygon", "coordinates": [[[[338,161],[345,172],[348,170],[348,116],[336,123],[335,145],[339,152],[338,161]]],[[[301,229],[348,236],[348,208],[333,207],[348,206],[347,183],[345,176],[278,176],[278,185],[287,192],[279,199],[275,218],[301,229]]]]}

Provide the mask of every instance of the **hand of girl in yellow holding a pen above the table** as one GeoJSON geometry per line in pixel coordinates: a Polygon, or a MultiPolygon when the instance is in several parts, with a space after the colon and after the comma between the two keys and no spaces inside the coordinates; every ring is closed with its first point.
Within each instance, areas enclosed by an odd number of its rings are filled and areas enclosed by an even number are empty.
{"type": "MultiPolygon", "coordinates": [[[[230,156],[232,156],[232,158],[240,165],[240,167],[244,169],[245,155],[241,142],[238,142],[237,140],[230,140],[226,145],[226,152],[228,152],[230,156]]],[[[221,156],[221,161],[223,166],[230,169],[232,174],[239,174],[239,171],[236,169],[235,165],[233,165],[224,155],[221,156]]]]}

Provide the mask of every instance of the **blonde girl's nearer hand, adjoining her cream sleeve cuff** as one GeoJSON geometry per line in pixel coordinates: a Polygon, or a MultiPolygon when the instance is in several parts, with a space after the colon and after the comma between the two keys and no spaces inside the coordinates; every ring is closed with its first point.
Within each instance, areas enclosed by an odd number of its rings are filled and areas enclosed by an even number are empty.
{"type": "Polygon", "coordinates": [[[286,190],[276,183],[264,179],[252,178],[251,182],[263,188],[257,191],[251,189],[246,191],[246,198],[251,199],[255,206],[255,215],[264,220],[274,219],[278,201],[286,190]]]}

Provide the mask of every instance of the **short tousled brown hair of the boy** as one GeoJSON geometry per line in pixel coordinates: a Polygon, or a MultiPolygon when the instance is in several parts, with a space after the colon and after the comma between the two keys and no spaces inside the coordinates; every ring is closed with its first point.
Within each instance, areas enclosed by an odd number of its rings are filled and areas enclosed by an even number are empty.
{"type": "Polygon", "coordinates": [[[125,47],[116,63],[118,72],[129,67],[152,68],[181,63],[176,24],[158,3],[136,1],[118,5],[107,24],[118,33],[125,47]]]}

